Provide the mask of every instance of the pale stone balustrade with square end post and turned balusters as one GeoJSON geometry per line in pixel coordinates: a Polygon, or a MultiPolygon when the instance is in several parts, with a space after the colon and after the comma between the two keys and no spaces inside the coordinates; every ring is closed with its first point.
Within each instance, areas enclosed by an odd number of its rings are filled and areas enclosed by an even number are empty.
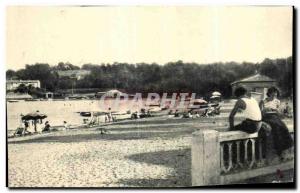
{"type": "MultiPolygon", "coordinates": [[[[291,135],[293,126],[289,125],[291,135]]],[[[199,130],[192,139],[192,185],[230,184],[260,175],[288,170],[294,160],[268,163],[258,134],[241,131],[199,130]]]]}

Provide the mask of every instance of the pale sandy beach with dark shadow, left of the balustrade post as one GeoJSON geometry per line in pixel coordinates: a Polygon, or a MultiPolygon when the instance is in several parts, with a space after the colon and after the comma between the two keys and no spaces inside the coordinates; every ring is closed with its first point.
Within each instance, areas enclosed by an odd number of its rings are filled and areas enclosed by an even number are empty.
{"type": "Polygon", "coordinates": [[[193,126],[120,124],[9,139],[9,187],[191,185],[193,126]]]}

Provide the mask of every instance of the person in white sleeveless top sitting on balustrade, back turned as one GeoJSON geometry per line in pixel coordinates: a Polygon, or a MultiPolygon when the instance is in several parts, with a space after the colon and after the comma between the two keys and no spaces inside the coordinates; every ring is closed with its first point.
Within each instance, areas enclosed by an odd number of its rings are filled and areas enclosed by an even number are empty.
{"type": "Polygon", "coordinates": [[[247,96],[247,90],[244,87],[238,87],[234,95],[238,100],[229,115],[229,130],[239,130],[247,133],[257,132],[262,124],[262,115],[258,102],[254,98],[247,96]],[[238,125],[234,125],[234,117],[239,111],[243,112],[245,120],[238,125]]]}

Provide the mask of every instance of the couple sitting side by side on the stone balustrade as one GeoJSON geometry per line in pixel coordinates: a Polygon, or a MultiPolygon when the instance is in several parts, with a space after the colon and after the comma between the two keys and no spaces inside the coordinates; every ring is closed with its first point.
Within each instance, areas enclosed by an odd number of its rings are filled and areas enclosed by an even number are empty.
{"type": "Polygon", "coordinates": [[[240,130],[247,133],[258,132],[258,136],[269,144],[267,153],[274,149],[276,154],[285,160],[292,150],[293,139],[289,130],[280,117],[279,90],[271,87],[267,91],[266,99],[257,102],[248,96],[247,89],[238,87],[234,94],[238,98],[229,115],[230,131],[240,130]],[[234,124],[237,112],[243,112],[245,120],[240,124],[234,124]]]}

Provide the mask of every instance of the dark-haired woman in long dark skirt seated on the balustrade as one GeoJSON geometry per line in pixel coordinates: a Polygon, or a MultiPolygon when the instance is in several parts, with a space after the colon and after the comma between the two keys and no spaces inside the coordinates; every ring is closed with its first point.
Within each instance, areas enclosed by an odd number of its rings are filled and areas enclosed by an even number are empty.
{"type": "Polygon", "coordinates": [[[279,91],[275,87],[271,87],[267,91],[267,98],[260,103],[262,111],[262,120],[268,123],[272,130],[273,146],[276,153],[285,159],[287,153],[293,146],[293,139],[289,133],[287,126],[279,117],[280,100],[277,99],[279,91]]]}

